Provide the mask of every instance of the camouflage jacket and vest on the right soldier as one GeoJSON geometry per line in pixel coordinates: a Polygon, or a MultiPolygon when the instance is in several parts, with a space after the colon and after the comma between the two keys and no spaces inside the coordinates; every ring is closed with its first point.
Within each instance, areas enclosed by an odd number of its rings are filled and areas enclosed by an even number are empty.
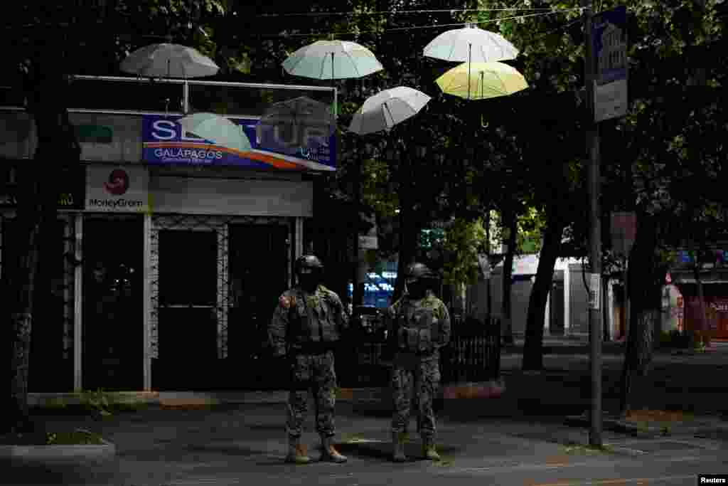
{"type": "Polygon", "coordinates": [[[392,351],[430,356],[450,342],[448,308],[431,293],[419,300],[405,295],[387,309],[385,321],[392,351]]]}

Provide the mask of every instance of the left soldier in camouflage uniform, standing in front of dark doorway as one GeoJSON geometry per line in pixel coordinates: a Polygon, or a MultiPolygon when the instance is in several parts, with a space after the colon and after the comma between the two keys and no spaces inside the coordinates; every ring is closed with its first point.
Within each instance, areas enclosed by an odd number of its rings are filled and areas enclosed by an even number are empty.
{"type": "Polygon", "coordinates": [[[280,296],[268,329],[275,356],[285,359],[290,372],[286,461],[296,464],[311,461],[301,445],[310,389],[316,404],[321,459],[343,463],[347,458],[333,447],[336,401],[333,350],[341,333],[348,328],[349,319],[339,296],[320,285],[323,265],[316,256],[301,256],[294,267],[298,284],[280,296]]]}

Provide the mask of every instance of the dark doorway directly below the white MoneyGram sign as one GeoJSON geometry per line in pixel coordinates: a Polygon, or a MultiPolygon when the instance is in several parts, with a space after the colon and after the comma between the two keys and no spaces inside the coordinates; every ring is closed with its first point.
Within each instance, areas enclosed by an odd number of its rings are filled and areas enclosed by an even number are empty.
{"type": "Polygon", "coordinates": [[[82,385],[143,388],[143,223],[84,221],[82,385]]]}

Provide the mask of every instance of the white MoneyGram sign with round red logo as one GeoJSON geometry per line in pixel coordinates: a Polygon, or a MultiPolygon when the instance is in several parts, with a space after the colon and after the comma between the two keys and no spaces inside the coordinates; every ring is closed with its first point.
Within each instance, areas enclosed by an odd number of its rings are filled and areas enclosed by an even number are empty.
{"type": "Polygon", "coordinates": [[[129,165],[90,166],[87,168],[86,186],[86,211],[149,211],[149,173],[146,168],[129,165]]]}

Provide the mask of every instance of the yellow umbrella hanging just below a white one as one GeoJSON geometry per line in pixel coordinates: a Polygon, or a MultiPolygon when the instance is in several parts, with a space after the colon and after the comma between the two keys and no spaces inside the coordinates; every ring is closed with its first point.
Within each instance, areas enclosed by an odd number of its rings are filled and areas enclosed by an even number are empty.
{"type": "Polygon", "coordinates": [[[523,74],[504,63],[462,63],[435,80],[448,95],[466,100],[507,96],[529,87],[523,74]]]}

